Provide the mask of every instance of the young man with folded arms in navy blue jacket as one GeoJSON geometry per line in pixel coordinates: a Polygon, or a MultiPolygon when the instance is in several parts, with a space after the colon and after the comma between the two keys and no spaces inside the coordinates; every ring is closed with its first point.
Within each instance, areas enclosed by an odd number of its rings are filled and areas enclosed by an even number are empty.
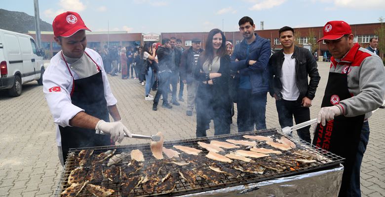
{"type": "Polygon", "coordinates": [[[254,33],[255,24],[248,16],[238,22],[245,39],[235,45],[231,55],[231,70],[239,71],[237,87],[238,132],[266,129],[266,101],[269,91],[268,62],[270,42],[254,33]]]}

